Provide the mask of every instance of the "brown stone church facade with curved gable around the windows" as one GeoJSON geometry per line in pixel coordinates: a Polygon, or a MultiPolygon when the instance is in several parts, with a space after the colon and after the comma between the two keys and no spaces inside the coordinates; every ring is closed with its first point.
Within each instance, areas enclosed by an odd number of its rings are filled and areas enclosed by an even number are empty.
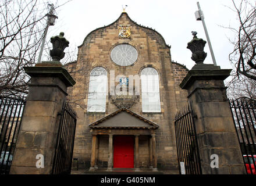
{"type": "MultiPolygon", "coordinates": [[[[157,167],[178,170],[174,117],[178,110],[187,106],[187,91],[182,90],[179,84],[189,70],[179,63],[172,62],[170,47],[166,45],[161,34],[133,22],[125,12],[112,24],[91,31],[79,47],[77,62],[66,65],[66,69],[72,73],[72,77],[76,81],[76,85],[68,92],[69,101],[75,103],[78,116],[73,158],[78,158],[79,169],[90,167],[93,138],[88,125],[118,110],[116,105],[111,102],[108,88],[106,112],[87,112],[90,71],[97,66],[104,67],[108,72],[108,87],[110,87],[109,74],[111,70],[115,70],[115,76],[122,74],[126,77],[140,75],[141,70],[145,67],[154,67],[157,70],[161,112],[142,112],[141,93],[138,101],[129,109],[159,126],[155,130],[157,167]],[[130,38],[119,38],[120,24],[130,25],[130,38]],[[130,44],[137,49],[138,58],[133,65],[118,66],[112,62],[111,51],[119,44],[130,44]]],[[[98,137],[96,146],[98,148],[98,167],[108,167],[108,141],[108,135],[98,137]]],[[[146,136],[138,137],[139,166],[141,168],[150,167],[149,143],[150,140],[146,136]]]]}

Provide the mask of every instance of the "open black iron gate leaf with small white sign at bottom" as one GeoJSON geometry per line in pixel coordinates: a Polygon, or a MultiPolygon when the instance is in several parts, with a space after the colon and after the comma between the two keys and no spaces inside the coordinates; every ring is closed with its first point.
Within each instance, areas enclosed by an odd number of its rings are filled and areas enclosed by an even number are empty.
{"type": "Polygon", "coordinates": [[[197,133],[189,108],[175,116],[175,134],[180,174],[202,174],[197,133]]]}

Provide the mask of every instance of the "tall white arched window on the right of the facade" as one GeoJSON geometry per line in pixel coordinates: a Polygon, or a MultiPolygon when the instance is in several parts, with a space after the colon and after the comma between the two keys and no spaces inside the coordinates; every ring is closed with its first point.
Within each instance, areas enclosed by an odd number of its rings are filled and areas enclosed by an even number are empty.
{"type": "Polygon", "coordinates": [[[141,96],[143,112],[161,112],[159,78],[154,68],[141,71],[141,96]]]}

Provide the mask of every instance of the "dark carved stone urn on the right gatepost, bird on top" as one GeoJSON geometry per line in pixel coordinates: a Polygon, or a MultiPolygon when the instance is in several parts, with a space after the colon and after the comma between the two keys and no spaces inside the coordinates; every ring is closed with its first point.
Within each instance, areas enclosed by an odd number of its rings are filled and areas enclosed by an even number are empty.
{"type": "Polygon", "coordinates": [[[197,64],[203,64],[207,56],[207,53],[204,52],[206,41],[201,38],[198,39],[196,31],[192,31],[191,33],[194,36],[193,40],[187,44],[187,48],[192,52],[191,59],[197,64]]]}

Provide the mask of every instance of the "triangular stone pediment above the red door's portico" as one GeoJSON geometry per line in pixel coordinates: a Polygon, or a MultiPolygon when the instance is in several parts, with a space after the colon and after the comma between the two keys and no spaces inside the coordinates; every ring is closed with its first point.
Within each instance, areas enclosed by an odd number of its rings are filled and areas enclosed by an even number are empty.
{"type": "Polygon", "coordinates": [[[89,125],[90,128],[133,128],[157,129],[158,124],[137,115],[127,108],[120,108],[108,116],[89,125]]]}

